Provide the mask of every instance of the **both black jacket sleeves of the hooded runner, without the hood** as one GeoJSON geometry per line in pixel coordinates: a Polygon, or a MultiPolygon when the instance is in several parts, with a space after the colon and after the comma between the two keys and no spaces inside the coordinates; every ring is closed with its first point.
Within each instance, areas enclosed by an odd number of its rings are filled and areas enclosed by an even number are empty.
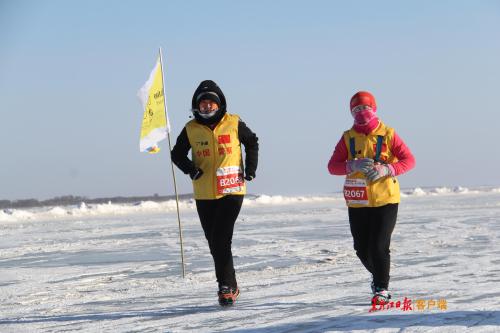
{"type": "MultiPolygon", "coordinates": [[[[238,138],[245,146],[245,175],[255,177],[259,159],[259,139],[241,120],[238,123],[238,138]]],[[[185,174],[191,173],[195,169],[193,161],[187,157],[190,149],[191,144],[189,143],[186,127],[184,127],[177,137],[171,156],[175,165],[185,174]]]]}

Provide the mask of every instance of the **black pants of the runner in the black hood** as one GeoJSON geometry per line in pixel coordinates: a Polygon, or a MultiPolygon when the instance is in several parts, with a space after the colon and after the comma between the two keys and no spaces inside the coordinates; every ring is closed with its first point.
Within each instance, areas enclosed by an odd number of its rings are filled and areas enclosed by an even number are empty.
{"type": "Polygon", "coordinates": [[[237,287],[231,243],[234,223],[242,204],[243,195],[226,195],[216,200],[196,200],[196,209],[214,259],[219,286],[237,287]]]}

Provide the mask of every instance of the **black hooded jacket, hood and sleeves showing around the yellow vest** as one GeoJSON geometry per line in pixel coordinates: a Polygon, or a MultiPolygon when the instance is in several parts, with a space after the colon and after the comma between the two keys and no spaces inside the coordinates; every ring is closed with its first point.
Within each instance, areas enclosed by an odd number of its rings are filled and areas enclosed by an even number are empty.
{"type": "MultiPolygon", "coordinates": [[[[193,94],[193,100],[191,102],[193,110],[198,109],[199,106],[196,103],[196,98],[203,92],[214,92],[219,96],[221,101],[219,112],[210,119],[200,117],[198,112],[193,112],[193,115],[197,122],[213,130],[213,128],[215,128],[222,117],[226,114],[226,97],[215,82],[205,80],[200,83],[193,94]]],[[[255,135],[255,133],[253,133],[241,120],[238,123],[238,138],[245,147],[245,175],[255,177],[259,155],[259,139],[257,138],[257,135],[255,135]]],[[[189,143],[186,127],[184,127],[177,137],[171,156],[175,165],[177,165],[177,167],[185,174],[192,173],[196,169],[193,161],[187,157],[190,149],[191,144],[189,143]]]]}

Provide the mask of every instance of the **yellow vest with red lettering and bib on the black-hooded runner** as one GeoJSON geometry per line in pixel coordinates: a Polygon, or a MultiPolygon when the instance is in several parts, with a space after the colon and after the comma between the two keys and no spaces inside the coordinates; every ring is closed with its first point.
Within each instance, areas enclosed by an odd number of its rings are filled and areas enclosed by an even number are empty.
{"type": "Polygon", "coordinates": [[[225,114],[213,130],[194,119],[186,124],[194,165],[203,170],[203,175],[193,181],[195,199],[246,193],[239,119],[237,115],[225,114]]]}

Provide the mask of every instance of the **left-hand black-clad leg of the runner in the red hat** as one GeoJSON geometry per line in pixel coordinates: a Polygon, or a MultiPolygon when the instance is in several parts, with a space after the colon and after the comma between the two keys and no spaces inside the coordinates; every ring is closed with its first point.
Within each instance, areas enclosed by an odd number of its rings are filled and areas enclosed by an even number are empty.
{"type": "Polygon", "coordinates": [[[369,256],[369,237],[370,237],[370,208],[351,208],[349,207],[349,225],[351,234],[354,240],[354,250],[356,255],[361,260],[361,263],[368,272],[373,274],[373,265],[369,256]]]}

